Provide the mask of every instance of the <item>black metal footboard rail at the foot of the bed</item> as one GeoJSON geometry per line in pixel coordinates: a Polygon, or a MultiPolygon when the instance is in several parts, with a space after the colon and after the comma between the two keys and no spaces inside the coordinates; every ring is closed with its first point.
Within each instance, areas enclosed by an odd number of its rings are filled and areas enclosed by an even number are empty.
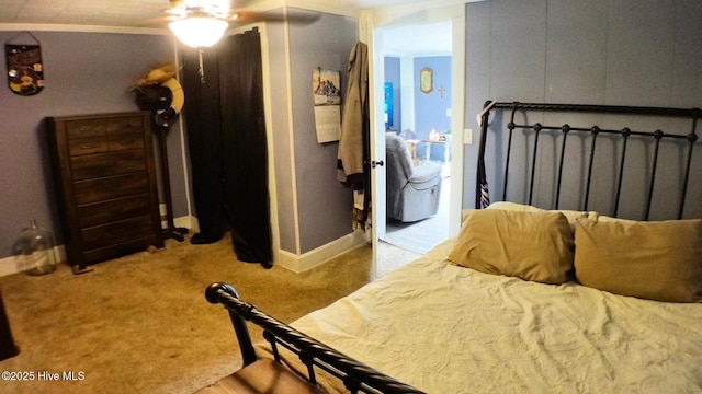
{"type": "Polygon", "coordinates": [[[315,368],[341,380],[351,393],[422,393],[371,367],[356,361],[336,349],[296,331],[279,320],[241,301],[237,291],[227,283],[212,283],[205,290],[210,303],[220,303],[229,312],[244,366],[257,360],[247,321],[263,328],[263,337],[270,343],[276,362],[281,362],[278,345],[294,352],[307,367],[307,380],[317,385],[315,368]]]}

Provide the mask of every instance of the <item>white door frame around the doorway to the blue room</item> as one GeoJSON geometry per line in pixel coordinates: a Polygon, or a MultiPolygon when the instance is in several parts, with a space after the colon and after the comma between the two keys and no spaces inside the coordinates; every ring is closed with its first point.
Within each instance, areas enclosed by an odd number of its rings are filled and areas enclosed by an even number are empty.
{"type": "Polygon", "coordinates": [[[385,114],[384,114],[384,83],[385,83],[385,37],[383,28],[396,27],[400,24],[427,24],[435,22],[451,23],[451,192],[449,198],[449,229],[448,236],[455,236],[461,228],[461,209],[463,207],[463,128],[465,103],[465,7],[463,4],[444,8],[418,9],[417,7],[395,7],[378,9],[362,16],[361,37],[369,45],[369,93],[371,105],[371,162],[375,163],[371,172],[372,182],[372,242],[373,268],[377,276],[378,241],[385,236],[385,114]],[[401,21],[401,22],[397,22],[401,21]]]}

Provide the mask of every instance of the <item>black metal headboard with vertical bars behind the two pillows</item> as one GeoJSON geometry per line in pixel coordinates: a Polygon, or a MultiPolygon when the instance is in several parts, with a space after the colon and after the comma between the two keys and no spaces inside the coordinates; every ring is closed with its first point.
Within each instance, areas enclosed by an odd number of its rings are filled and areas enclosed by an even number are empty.
{"type": "MultiPolygon", "coordinates": [[[[668,141],[677,141],[680,149],[683,149],[683,146],[687,146],[684,149],[687,150],[684,162],[681,164],[681,187],[680,195],[675,198],[678,199],[677,206],[677,218],[670,219],[681,219],[683,217],[683,211],[686,210],[686,200],[688,199],[688,186],[690,185],[690,174],[691,166],[693,162],[693,151],[695,147],[699,147],[698,143],[698,132],[697,132],[697,124],[698,119],[702,115],[700,108],[666,108],[666,107],[637,107],[637,106],[616,106],[616,105],[579,105],[579,104],[536,104],[536,103],[520,103],[520,102],[494,102],[487,101],[484,105],[483,112],[479,114],[480,121],[480,142],[478,148],[478,163],[477,163],[477,179],[476,179],[476,194],[475,194],[475,208],[480,209],[485,208],[490,204],[489,190],[488,190],[488,182],[487,182],[487,172],[486,172],[486,144],[488,140],[488,136],[494,132],[489,132],[490,123],[492,118],[497,119],[498,116],[495,116],[495,113],[499,113],[501,117],[509,117],[509,121],[507,121],[507,151],[505,154],[506,160],[502,163],[495,163],[496,166],[503,165],[503,174],[502,175],[502,193],[501,199],[507,200],[507,192],[508,192],[508,179],[509,179],[509,171],[510,165],[513,167],[516,165],[529,165],[529,169],[522,167],[528,174],[529,185],[526,187],[526,195],[524,204],[532,205],[533,202],[533,194],[534,194],[534,179],[537,176],[536,167],[539,163],[540,155],[540,136],[544,135],[544,132],[550,132],[551,137],[554,138],[554,146],[557,146],[558,142],[555,142],[556,139],[559,139],[559,151],[555,153],[557,155],[557,169],[555,170],[554,179],[554,188],[553,190],[553,206],[548,207],[551,209],[563,209],[561,207],[561,197],[563,189],[563,174],[564,174],[564,164],[573,165],[569,163],[569,159],[566,159],[566,143],[569,140],[569,136],[579,135],[580,137],[588,138],[589,149],[586,150],[585,159],[577,159],[586,161],[585,165],[587,166],[587,174],[584,174],[584,183],[582,186],[582,196],[580,196],[581,206],[575,207],[578,210],[588,210],[590,208],[590,197],[591,197],[591,186],[593,182],[593,177],[596,174],[593,173],[593,164],[596,161],[596,148],[598,147],[598,136],[608,136],[611,139],[619,139],[618,152],[619,158],[615,160],[619,161],[616,163],[615,171],[615,182],[614,182],[614,190],[611,190],[612,194],[612,210],[608,212],[609,215],[616,217],[619,213],[620,206],[622,204],[622,184],[625,176],[625,173],[631,170],[632,165],[636,165],[641,169],[645,169],[648,171],[647,175],[647,185],[645,186],[645,202],[644,202],[644,213],[643,220],[649,220],[652,204],[654,200],[654,189],[656,186],[657,170],[659,170],[659,151],[663,140],[668,141]],[[545,113],[562,113],[565,115],[568,114],[601,114],[601,115],[635,115],[635,116],[646,116],[646,117],[657,117],[660,119],[667,118],[683,118],[689,119],[689,134],[671,134],[664,132],[660,129],[648,130],[648,131],[639,131],[633,129],[634,127],[623,127],[621,129],[610,129],[610,128],[601,128],[597,125],[593,126],[573,126],[569,124],[559,124],[559,125],[543,125],[541,123],[534,123],[531,125],[526,124],[517,124],[516,115],[523,114],[532,114],[541,112],[545,113]],[[531,160],[529,163],[510,163],[510,159],[512,159],[512,150],[513,147],[513,136],[516,130],[522,130],[523,132],[531,134],[531,144],[533,144],[528,154],[531,155],[531,160]],[[643,162],[630,163],[630,158],[627,157],[629,152],[629,141],[630,137],[636,137],[644,143],[648,143],[649,147],[647,149],[653,153],[643,159],[643,162]],[[589,158],[587,158],[589,155],[589,158]],[[653,157],[653,159],[650,158],[653,157]]],[[[524,116],[525,117],[525,116],[524,116]]],[[[506,119],[500,119],[505,121],[506,119]]],[[[576,119],[577,121],[578,119],[576,119]]],[[[499,132],[499,130],[498,130],[499,132]]],[[[495,139],[497,136],[490,136],[490,139],[495,139]]],[[[543,136],[542,136],[543,138],[543,136]]],[[[699,169],[698,169],[699,170],[699,169]]],[[[658,179],[659,181],[659,179],[658,179]]],[[[666,192],[667,193],[667,192],[666,192]]],[[[547,207],[543,207],[547,208],[547,207]]],[[[570,207],[568,207],[570,208],[570,207]]],[[[695,216],[699,212],[694,213],[695,216]]]]}

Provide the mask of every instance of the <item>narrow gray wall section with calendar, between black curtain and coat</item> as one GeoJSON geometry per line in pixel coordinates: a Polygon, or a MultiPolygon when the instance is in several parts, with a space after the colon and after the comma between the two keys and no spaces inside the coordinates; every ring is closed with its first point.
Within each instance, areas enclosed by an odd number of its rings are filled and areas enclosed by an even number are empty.
{"type": "MultiPolygon", "coordinates": [[[[346,94],[349,54],[358,39],[356,19],[322,13],[314,23],[290,25],[293,149],[301,253],[352,232],[352,194],[336,179],[338,143],[317,143],[312,71],[317,67],[339,70],[342,92],[346,94]]],[[[284,215],[288,212],[281,212],[279,218],[283,219],[284,215]]],[[[288,227],[281,223],[281,231],[283,229],[288,227]]],[[[283,239],[290,239],[288,234],[281,234],[281,246],[283,239]]],[[[295,252],[290,246],[286,244],[283,248],[295,252]]]]}

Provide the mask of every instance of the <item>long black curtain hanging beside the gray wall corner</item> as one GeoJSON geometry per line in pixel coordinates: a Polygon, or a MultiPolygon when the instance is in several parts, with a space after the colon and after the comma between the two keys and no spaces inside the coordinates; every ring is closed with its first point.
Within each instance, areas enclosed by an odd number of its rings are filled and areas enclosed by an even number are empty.
{"type": "MultiPolygon", "coordinates": [[[[201,223],[197,235],[203,241],[218,240],[226,220],[237,258],[269,268],[272,252],[260,34],[252,30],[228,36],[214,49],[205,51],[215,55],[214,59],[212,55],[205,57],[204,83],[197,73],[199,63],[193,70],[193,59],[183,61],[185,79],[200,83],[192,89],[201,92],[197,99],[202,100],[193,104],[194,111],[200,112],[193,116],[193,121],[199,123],[193,125],[195,132],[191,132],[190,108],[185,106],[193,192],[201,223]],[[201,155],[197,160],[193,158],[193,147],[201,155]],[[205,167],[195,170],[195,162],[205,167]],[[196,181],[197,175],[205,179],[196,181]],[[204,215],[212,216],[205,219],[206,227],[202,225],[201,205],[206,205],[204,215]]],[[[192,55],[197,60],[197,51],[192,55]]],[[[185,101],[192,101],[185,85],[183,89],[185,101]]]]}

